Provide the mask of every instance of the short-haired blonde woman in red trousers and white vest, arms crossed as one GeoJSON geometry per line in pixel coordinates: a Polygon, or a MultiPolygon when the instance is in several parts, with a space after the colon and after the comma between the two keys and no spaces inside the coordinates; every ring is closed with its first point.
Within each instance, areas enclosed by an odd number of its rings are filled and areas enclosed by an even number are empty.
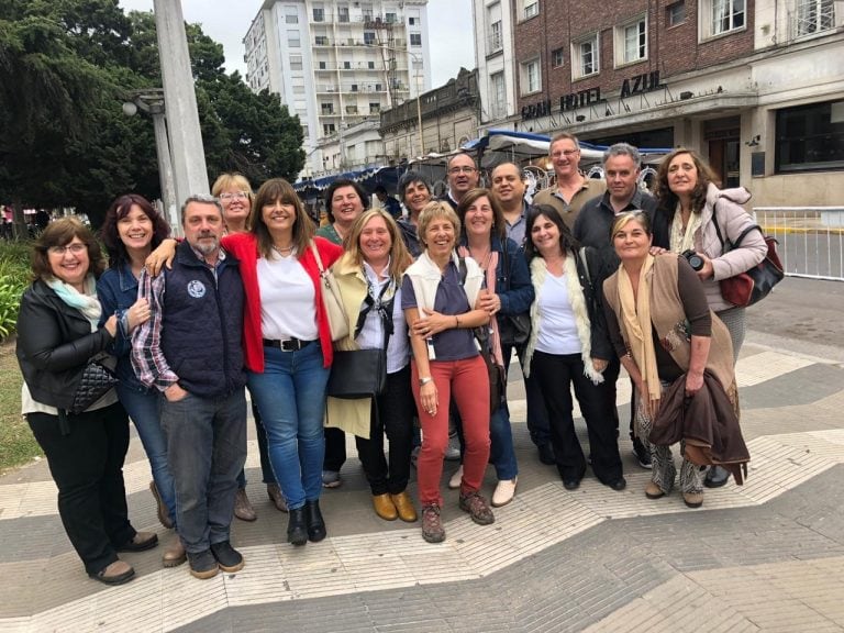
{"type": "Polygon", "coordinates": [[[406,270],[401,286],[413,353],[413,397],[422,425],[417,462],[422,537],[429,543],[445,538],[440,478],[448,446],[452,399],[466,442],[459,507],[480,525],[495,521],[479,492],[489,460],[489,378],[471,332],[486,326],[490,313],[478,306],[478,298],[487,292],[482,270],[470,257],[460,260],[455,253],[459,234],[460,221],[449,204],[426,204],[419,216],[424,252],[406,270]]]}

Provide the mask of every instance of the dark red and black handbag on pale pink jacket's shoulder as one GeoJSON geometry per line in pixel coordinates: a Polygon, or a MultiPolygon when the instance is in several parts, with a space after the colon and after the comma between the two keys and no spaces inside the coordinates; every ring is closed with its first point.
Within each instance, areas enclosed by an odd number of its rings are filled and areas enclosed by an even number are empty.
{"type": "Polygon", "coordinates": [[[736,237],[735,242],[730,242],[730,240],[724,241],[721,236],[721,229],[718,225],[717,214],[714,212],[712,213],[712,221],[715,224],[715,233],[721,241],[721,248],[724,253],[738,248],[742,241],[751,231],[758,231],[762,233],[762,237],[765,240],[765,245],[768,248],[767,253],[765,253],[765,258],[749,270],[740,273],[733,277],[728,277],[726,279],[721,279],[721,281],[719,281],[721,296],[733,306],[741,308],[753,306],[757,301],[765,299],[765,297],[767,297],[774,289],[774,286],[782,281],[786,276],[782,263],[779,259],[779,254],[777,253],[777,240],[770,235],[765,235],[762,227],[758,224],[754,224],[742,231],[742,234],[736,237]]]}

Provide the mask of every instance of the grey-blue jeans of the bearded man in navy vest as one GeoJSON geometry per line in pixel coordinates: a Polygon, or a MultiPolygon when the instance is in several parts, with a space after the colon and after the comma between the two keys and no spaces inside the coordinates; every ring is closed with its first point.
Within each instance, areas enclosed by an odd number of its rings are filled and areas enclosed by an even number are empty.
{"type": "Polygon", "coordinates": [[[229,541],[237,474],[246,462],[245,390],[220,399],[164,399],[162,426],[185,548],[197,554],[229,541]]]}

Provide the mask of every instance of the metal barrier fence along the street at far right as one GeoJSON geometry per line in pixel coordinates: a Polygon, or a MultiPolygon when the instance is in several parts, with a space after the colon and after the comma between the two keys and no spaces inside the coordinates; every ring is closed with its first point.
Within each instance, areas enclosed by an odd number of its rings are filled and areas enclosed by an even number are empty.
{"type": "Polygon", "coordinates": [[[844,281],[844,207],[755,207],[786,275],[844,281]]]}

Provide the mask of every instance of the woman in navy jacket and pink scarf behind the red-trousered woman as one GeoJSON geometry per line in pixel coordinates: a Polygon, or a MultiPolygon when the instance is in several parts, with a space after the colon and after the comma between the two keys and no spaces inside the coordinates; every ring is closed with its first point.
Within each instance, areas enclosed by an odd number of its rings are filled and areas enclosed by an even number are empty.
{"type": "MultiPolygon", "coordinates": [[[[458,254],[471,257],[484,270],[488,292],[480,301],[491,316],[492,352],[499,365],[508,367],[500,340],[504,316],[526,313],[533,303],[533,285],[524,253],[507,237],[503,212],[487,189],[473,189],[460,200],[457,216],[463,224],[458,254]]],[[[511,347],[507,347],[510,352],[511,347]]],[[[513,434],[507,403],[491,412],[489,462],[496,468],[498,485],[492,506],[500,507],[515,496],[519,466],[515,462],[513,434]]],[[[449,487],[459,486],[462,470],[455,473],[449,487]]]]}

